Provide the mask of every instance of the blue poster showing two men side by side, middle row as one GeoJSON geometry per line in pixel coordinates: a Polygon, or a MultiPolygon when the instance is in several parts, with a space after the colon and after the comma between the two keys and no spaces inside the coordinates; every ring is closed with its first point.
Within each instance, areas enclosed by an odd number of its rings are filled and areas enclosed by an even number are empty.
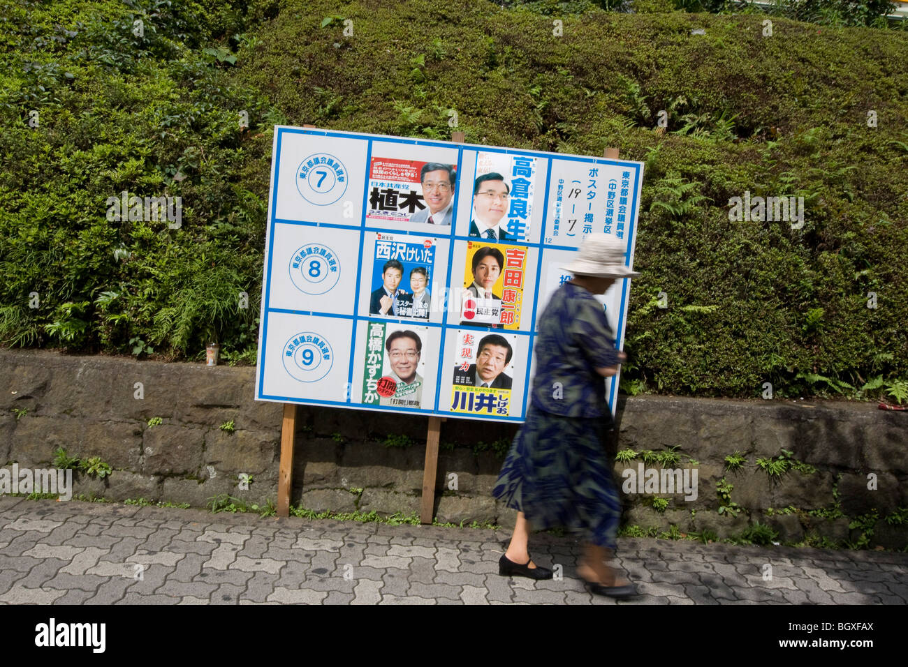
{"type": "Polygon", "coordinates": [[[372,253],[370,315],[429,319],[436,241],[378,233],[372,253]]]}

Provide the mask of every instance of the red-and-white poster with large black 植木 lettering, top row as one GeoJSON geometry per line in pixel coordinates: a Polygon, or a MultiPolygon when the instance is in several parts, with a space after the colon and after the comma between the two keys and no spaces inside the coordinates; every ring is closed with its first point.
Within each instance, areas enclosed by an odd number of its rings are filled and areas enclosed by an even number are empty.
{"type": "MultiPolygon", "coordinates": [[[[449,174],[429,172],[433,178],[427,183],[429,191],[423,191],[422,171],[428,164],[425,160],[405,160],[389,157],[372,157],[369,167],[369,206],[367,221],[377,222],[426,222],[432,209],[440,210],[437,224],[449,221],[453,187],[448,182],[449,174]],[[435,179],[438,173],[445,178],[435,179]],[[435,182],[439,181],[439,182],[435,182]],[[448,217],[445,216],[448,211],[448,217]]],[[[448,165],[445,165],[448,166],[448,165]]],[[[457,165],[449,165],[452,172],[457,165]]],[[[435,221],[433,221],[435,222],[435,221]]]]}

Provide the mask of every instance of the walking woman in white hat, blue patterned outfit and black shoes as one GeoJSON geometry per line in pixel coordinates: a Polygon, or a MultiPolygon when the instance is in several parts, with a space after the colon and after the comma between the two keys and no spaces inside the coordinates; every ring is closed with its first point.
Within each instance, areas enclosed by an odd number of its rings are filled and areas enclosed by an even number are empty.
{"type": "Polygon", "coordinates": [[[492,495],[518,510],[499,574],[550,579],[552,571],[529,557],[529,525],[562,525],[587,543],[577,574],[599,595],[630,597],[633,584],[606,564],[616,547],[621,504],[604,445],[612,429],[605,378],[625,359],[615,348],[602,304],[616,279],[639,273],[624,263],[624,243],[590,234],[566,270],[565,282],[538,319],[536,376],[526,423],[508,451],[492,495]]]}

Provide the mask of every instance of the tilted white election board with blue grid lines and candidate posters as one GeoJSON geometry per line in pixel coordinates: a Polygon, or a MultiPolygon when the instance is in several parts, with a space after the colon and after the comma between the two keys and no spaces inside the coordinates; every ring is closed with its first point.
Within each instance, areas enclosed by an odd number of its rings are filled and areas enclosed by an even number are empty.
{"type": "MultiPolygon", "coordinates": [[[[276,126],[256,399],[523,421],[537,319],[587,234],[633,267],[642,180],[641,162],[276,126]]],[[[619,348],[628,289],[597,297],[619,348]]]]}

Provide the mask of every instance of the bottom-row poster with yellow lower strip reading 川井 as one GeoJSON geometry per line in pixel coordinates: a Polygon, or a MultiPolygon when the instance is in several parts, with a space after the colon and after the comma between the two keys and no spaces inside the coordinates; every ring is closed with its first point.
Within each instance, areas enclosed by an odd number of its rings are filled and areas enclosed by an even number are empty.
{"type": "Polygon", "coordinates": [[[451,411],[508,417],[517,336],[459,330],[457,337],[451,411]]]}

